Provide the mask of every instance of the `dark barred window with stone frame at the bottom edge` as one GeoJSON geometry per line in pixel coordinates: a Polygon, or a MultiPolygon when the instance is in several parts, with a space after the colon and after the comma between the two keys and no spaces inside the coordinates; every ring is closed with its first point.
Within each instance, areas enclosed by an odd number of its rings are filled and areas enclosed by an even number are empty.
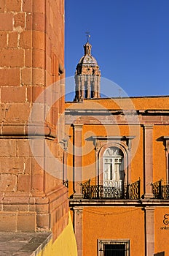
{"type": "Polygon", "coordinates": [[[98,240],[98,256],[129,256],[129,241],[98,240]]]}

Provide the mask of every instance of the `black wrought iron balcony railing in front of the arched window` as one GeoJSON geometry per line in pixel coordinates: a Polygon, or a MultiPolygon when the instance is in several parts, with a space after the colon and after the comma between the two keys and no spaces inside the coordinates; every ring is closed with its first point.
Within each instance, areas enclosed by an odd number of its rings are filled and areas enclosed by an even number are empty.
{"type": "Polygon", "coordinates": [[[82,184],[82,194],[86,199],[140,199],[140,180],[116,187],[93,185],[89,180],[82,184]]]}

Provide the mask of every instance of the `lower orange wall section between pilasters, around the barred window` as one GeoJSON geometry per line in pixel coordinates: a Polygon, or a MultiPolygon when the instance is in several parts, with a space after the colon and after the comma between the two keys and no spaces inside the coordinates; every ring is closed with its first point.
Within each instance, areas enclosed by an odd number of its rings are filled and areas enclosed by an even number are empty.
{"type": "Polygon", "coordinates": [[[130,240],[130,256],[144,255],[144,211],[135,207],[86,207],[84,256],[98,255],[98,239],[130,240]]]}

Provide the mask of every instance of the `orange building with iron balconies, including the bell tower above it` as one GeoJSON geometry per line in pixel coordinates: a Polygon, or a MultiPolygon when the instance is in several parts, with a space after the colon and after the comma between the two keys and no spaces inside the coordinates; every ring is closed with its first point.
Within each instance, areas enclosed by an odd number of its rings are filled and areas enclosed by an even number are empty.
{"type": "Polygon", "coordinates": [[[168,255],[169,97],[101,98],[88,45],[76,67],[74,102],[66,102],[78,255],[168,255]]]}

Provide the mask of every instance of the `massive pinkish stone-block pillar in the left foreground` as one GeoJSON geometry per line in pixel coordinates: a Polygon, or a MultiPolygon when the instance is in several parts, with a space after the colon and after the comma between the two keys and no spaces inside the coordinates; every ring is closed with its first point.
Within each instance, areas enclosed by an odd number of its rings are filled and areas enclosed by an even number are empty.
{"type": "MultiPolygon", "coordinates": [[[[0,0],[0,230],[52,229],[56,238],[67,225],[66,188],[38,165],[28,143],[32,104],[63,78],[63,57],[64,1],[0,0]]],[[[56,90],[60,94],[63,85],[56,90]]],[[[38,127],[36,138],[31,138],[38,148],[36,157],[45,154],[47,141],[62,161],[63,151],[50,131],[55,134],[63,100],[52,108],[44,140],[38,127]]]]}

